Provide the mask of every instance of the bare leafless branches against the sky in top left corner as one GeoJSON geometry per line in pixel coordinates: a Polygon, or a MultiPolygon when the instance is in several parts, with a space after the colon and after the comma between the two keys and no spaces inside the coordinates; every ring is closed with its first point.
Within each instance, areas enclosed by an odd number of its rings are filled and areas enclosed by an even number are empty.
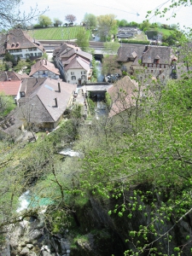
{"type": "MultiPolygon", "coordinates": [[[[8,0],[8,1],[1,1],[0,2],[0,30],[3,31],[4,29],[9,29],[13,26],[23,26],[26,22],[29,22],[33,18],[38,17],[40,13],[38,11],[38,6],[34,9],[31,8],[29,14],[20,13],[20,4],[21,1],[19,0],[8,0]]],[[[46,11],[47,9],[45,9],[46,11]]]]}

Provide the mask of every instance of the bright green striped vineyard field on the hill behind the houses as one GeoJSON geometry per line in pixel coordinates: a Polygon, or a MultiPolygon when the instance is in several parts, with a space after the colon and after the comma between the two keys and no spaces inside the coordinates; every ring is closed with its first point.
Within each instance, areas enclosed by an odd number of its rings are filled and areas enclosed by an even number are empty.
{"type": "Polygon", "coordinates": [[[48,27],[28,31],[29,35],[37,40],[71,40],[76,39],[79,32],[85,32],[86,37],[90,38],[90,31],[85,30],[83,26],[48,27]]]}

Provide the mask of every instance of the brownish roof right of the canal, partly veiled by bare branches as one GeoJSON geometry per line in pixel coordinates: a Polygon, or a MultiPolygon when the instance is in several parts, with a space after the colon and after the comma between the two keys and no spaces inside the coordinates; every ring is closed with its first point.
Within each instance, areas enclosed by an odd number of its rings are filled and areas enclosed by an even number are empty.
{"type": "Polygon", "coordinates": [[[135,108],[138,83],[130,77],[120,79],[108,89],[108,94],[112,99],[112,107],[108,113],[109,117],[121,113],[128,108],[135,108]]]}

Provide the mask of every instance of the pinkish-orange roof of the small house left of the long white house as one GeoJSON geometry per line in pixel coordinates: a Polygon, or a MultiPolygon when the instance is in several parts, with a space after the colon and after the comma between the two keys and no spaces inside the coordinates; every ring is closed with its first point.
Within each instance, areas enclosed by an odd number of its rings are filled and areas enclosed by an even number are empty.
{"type": "Polygon", "coordinates": [[[51,71],[57,75],[60,75],[59,69],[55,68],[55,65],[47,60],[40,60],[31,67],[31,72],[29,76],[32,76],[34,73],[38,71],[51,71]]]}

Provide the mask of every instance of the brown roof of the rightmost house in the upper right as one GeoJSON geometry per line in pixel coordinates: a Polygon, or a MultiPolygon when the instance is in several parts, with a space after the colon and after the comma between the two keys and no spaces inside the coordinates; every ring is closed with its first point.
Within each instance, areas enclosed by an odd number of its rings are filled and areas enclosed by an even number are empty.
{"type": "Polygon", "coordinates": [[[159,64],[171,63],[171,47],[150,45],[143,54],[143,63],[154,63],[154,60],[159,60],[159,64]]]}

